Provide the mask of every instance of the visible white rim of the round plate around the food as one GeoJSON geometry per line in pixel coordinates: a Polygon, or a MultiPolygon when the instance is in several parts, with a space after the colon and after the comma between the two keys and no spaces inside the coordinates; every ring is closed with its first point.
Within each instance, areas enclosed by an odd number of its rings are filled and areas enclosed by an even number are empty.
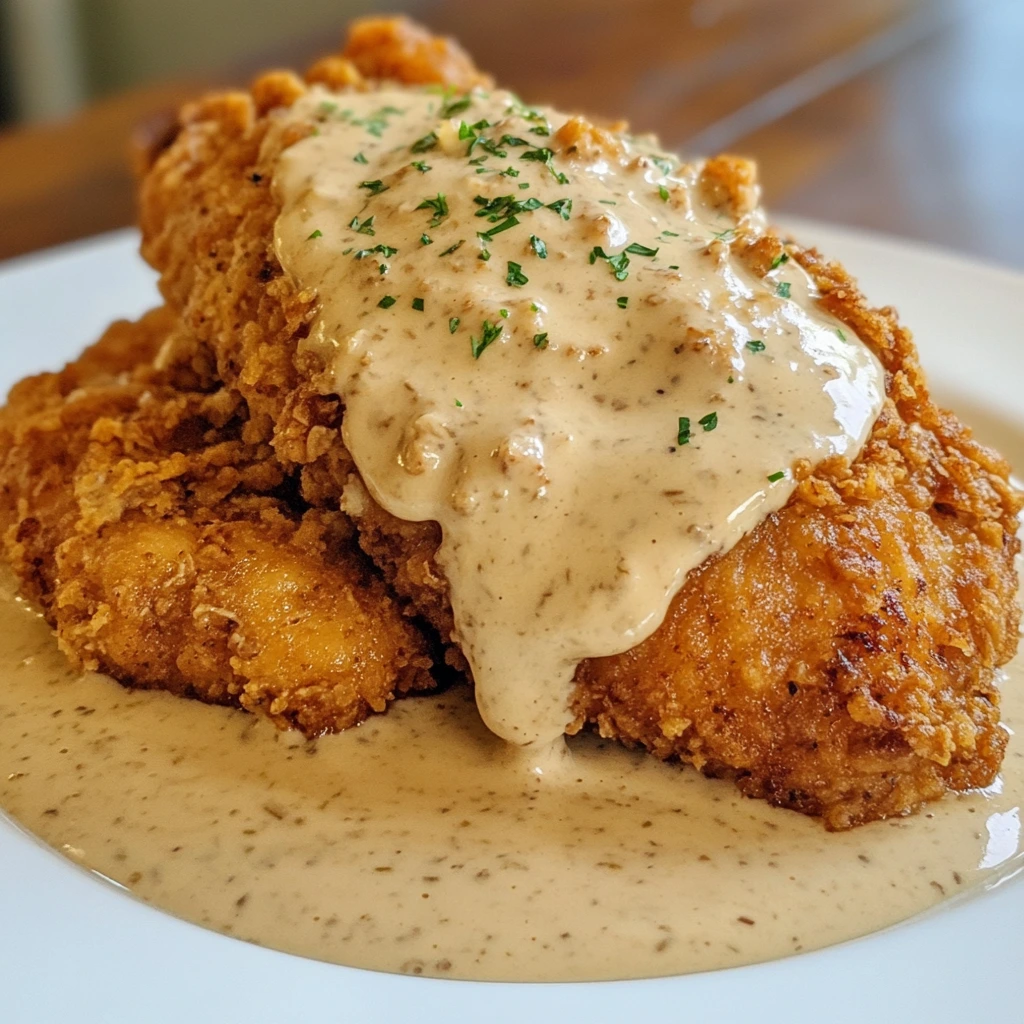
{"type": "MultiPolygon", "coordinates": [[[[1024,466],[1024,275],[791,222],[897,303],[943,400],[1024,466]]],[[[0,267],[0,387],[56,368],[156,301],[124,231],[0,267]]],[[[0,681],[2,685],[2,681],[0,681]]],[[[177,921],[0,819],[0,1021],[200,1024],[612,1020],[728,1024],[1024,1021],[1024,883],[771,964],[654,981],[509,985],[332,967],[177,921]]]]}

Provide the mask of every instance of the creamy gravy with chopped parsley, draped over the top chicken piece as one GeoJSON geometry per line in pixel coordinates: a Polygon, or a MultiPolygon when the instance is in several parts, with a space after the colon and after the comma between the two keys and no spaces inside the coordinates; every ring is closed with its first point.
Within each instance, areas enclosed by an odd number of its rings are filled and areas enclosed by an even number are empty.
{"type": "Polygon", "coordinates": [[[798,265],[762,279],[730,245],[759,210],[737,222],[702,165],[567,120],[317,87],[273,173],[345,443],[385,509],[440,523],[481,716],[519,744],[562,734],[578,663],[649,636],[798,460],[856,455],[883,396],[798,265]]]}

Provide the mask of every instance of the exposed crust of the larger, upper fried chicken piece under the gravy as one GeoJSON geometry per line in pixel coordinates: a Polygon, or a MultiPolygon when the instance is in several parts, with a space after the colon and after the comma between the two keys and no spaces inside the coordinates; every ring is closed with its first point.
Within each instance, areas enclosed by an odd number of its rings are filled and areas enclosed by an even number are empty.
{"type": "MultiPolygon", "coordinates": [[[[321,61],[308,81],[361,88],[376,76],[480,79],[452,44],[404,22],[371,22],[353,30],[347,56],[321,61]]],[[[199,391],[237,394],[247,443],[272,450],[295,483],[291,501],[323,515],[343,501],[404,610],[449,639],[437,525],[399,521],[360,487],[337,397],[319,393],[324,368],[298,354],[316,299],[296,292],[274,256],[272,176],[281,147],[312,126],[270,128],[304,89],[276,73],[251,93],[207,97],[153,155],[143,253],[179,322],[162,366],[199,391]]],[[[701,181],[737,209],[756,197],[744,161],[710,161],[701,181]]],[[[691,572],[653,636],[580,666],[570,731],[593,727],[732,776],[831,828],[987,784],[1006,744],[996,670],[1016,648],[1019,618],[1020,500],[1008,467],[932,403],[908,333],[892,310],[869,309],[839,266],[770,232],[734,245],[762,273],[783,251],[808,269],[824,305],[885,367],[885,408],[853,463],[799,467],[782,510],[691,572]]],[[[446,657],[465,668],[456,646],[446,657]]]]}

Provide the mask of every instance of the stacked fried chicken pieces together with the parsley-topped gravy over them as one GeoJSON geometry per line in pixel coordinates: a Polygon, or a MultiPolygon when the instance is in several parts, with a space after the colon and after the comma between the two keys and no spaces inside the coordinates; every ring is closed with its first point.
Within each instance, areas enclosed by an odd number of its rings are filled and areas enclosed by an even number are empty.
{"type": "Polygon", "coordinates": [[[1009,468],[749,162],[371,19],[144,163],[165,305],[0,414],[73,659],[307,734],[471,678],[830,828],[993,780],[1009,468]]]}

